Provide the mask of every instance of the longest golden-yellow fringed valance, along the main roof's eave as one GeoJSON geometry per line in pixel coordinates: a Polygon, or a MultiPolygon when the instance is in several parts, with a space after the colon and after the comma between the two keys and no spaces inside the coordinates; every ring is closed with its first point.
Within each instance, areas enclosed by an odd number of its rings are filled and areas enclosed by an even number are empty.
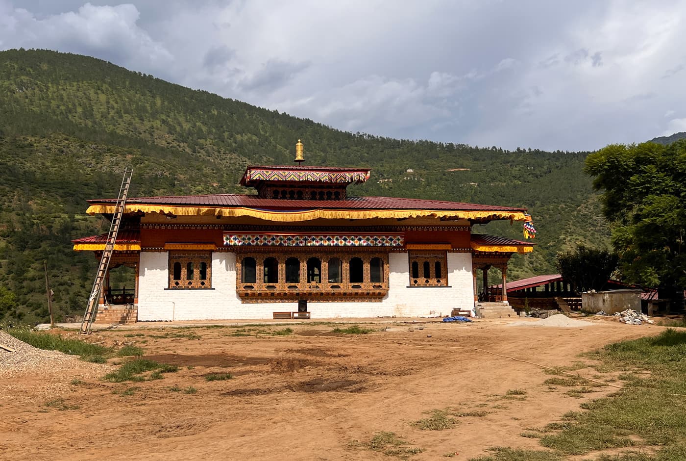
{"type": "MultiPolygon", "coordinates": [[[[113,214],[115,205],[91,205],[86,213],[113,214]]],[[[125,213],[158,213],[172,214],[175,216],[250,216],[266,221],[281,223],[311,221],[317,218],[324,219],[368,219],[368,218],[444,218],[444,219],[510,219],[511,221],[523,221],[524,213],[517,211],[496,210],[292,210],[270,211],[259,210],[249,207],[182,207],[173,205],[139,205],[127,204],[125,213]]]]}

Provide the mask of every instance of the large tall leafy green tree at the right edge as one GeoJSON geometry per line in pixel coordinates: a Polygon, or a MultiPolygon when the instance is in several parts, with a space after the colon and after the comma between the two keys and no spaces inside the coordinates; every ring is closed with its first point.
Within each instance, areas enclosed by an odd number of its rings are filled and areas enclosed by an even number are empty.
{"type": "Polygon", "coordinates": [[[624,278],[683,302],[686,139],[667,146],[611,144],[589,155],[585,170],[604,191],[603,212],[624,278]]]}

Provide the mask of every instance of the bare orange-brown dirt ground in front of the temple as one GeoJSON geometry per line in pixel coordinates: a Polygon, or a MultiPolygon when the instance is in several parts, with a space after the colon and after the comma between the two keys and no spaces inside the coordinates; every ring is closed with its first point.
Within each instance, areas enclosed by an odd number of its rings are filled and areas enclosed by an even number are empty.
{"type": "MultiPolygon", "coordinates": [[[[93,333],[89,341],[135,344],[146,358],[179,370],[141,383],[102,380],[122,359],[77,361],[84,366],[67,372],[0,370],[0,459],[397,459],[365,447],[379,431],[423,449],[412,460],[449,453],[467,460],[492,446],[539,448],[537,439],[521,436],[526,429],[616,389],[570,396],[568,387],[544,384],[551,376],[538,366],[469,347],[551,367],[592,365],[578,354],[662,330],[611,319],[584,328],[508,326],[512,321],[361,325],[376,329],[366,335],[332,333],[341,326],[322,323],[294,324],[285,336],[270,334],[284,326],[93,333]],[[226,372],[233,379],[205,379],[226,372]],[[197,392],[186,393],[189,387],[197,392]],[[440,431],[410,424],[446,408],[487,413],[458,416],[455,427],[440,431]]],[[[611,378],[593,368],[575,373],[611,378]]]]}

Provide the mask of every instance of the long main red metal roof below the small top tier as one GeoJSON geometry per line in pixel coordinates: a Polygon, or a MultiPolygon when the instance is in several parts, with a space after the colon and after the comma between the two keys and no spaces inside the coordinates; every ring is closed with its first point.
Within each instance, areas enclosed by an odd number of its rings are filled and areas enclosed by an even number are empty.
{"type": "MultiPolygon", "coordinates": [[[[117,199],[92,199],[88,203],[116,203],[117,199]]],[[[257,195],[212,194],[137,197],[126,200],[127,205],[176,205],[207,207],[248,207],[260,210],[455,210],[525,212],[526,208],[479,205],[476,203],[440,200],[402,199],[394,197],[350,197],[344,200],[288,200],[263,199],[257,195]]],[[[506,239],[508,242],[518,240],[506,239]]],[[[496,245],[496,244],[494,244],[496,245]]],[[[512,244],[510,244],[512,245],[512,244]]],[[[518,243],[514,245],[531,245],[518,243]]]]}

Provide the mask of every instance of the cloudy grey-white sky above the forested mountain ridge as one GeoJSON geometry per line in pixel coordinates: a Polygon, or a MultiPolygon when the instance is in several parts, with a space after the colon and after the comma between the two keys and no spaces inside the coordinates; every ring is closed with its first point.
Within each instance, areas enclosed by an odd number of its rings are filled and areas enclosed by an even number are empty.
{"type": "Polygon", "coordinates": [[[48,48],[346,131],[595,150],[686,131],[686,2],[0,0],[48,48]]]}

